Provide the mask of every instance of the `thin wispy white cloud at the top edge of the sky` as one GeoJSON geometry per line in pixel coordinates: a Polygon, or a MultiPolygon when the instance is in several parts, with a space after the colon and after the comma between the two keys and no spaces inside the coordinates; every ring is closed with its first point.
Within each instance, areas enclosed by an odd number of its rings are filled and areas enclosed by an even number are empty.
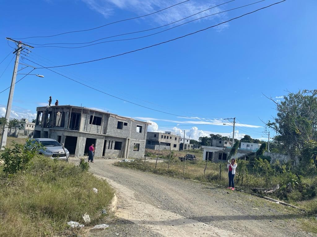
{"type": "MultiPolygon", "coordinates": [[[[164,9],[173,4],[179,3],[176,0],[82,0],[84,3],[88,5],[88,7],[100,14],[104,17],[109,17],[114,14],[114,9],[122,9],[134,12],[136,15],[146,15],[152,12],[155,12],[160,9],[164,9]]],[[[209,3],[205,3],[201,0],[193,0],[190,2],[182,3],[177,6],[171,7],[159,13],[150,15],[154,21],[158,23],[171,23],[173,21],[178,21],[183,19],[189,15],[196,14],[200,11],[208,9],[212,6],[215,6],[216,1],[211,1],[209,3]]],[[[197,19],[202,16],[211,15],[217,12],[220,12],[219,7],[215,7],[208,11],[202,12],[193,16],[193,18],[188,18],[187,20],[197,19]]],[[[222,17],[225,13],[221,13],[211,17],[222,17]]],[[[211,19],[211,17],[206,17],[211,19]]],[[[204,18],[204,19],[206,19],[204,18]]],[[[144,18],[147,19],[148,18],[144,18]]],[[[218,30],[222,30],[223,28],[228,27],[228,25],[219,27],[218,30]]]]}

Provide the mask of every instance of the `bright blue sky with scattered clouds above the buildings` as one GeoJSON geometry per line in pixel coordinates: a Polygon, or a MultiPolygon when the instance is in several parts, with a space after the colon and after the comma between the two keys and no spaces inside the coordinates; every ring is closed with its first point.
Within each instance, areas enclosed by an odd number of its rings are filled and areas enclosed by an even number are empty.
{"type": "MultiPolygon", "coordinates": [[[[146,15],[179,2],[181,0],[4,1],[0,14],[0,61],[10,53],[10,46],[15,46],[13,42],[9,42],[9,46],[5,37],[45,36],[93,28],[146,15]]],[[[157,14],[92,31],[22,41],[33,46],[87,42],[165,25],[224,2],[190,0],[157,14]]],[[[235,0],[168,27],[254,2],[235,0]]],[[[278,1],[265,0],[142,39],[78,49],[36,47],[23,57],[44,66],[104,58],[170,40],[275,2],[278,1]]],[[[177,134],[179,130],[186,130],[186,137],[190,135],[194,139],[210,133],[232,136],[232,127],[223,125],[223,119],[236,117],[236,137],[249,134],[253,138],[265,139],[260,135],[264,131],[260,119],[267,121],[276,112],[274,103],[262,93],[278,101],[282,98],[276,97],[286,95],[286,90],[296,92],[316,88],[316,7],[314,0],[287,0],[219,27],[150,49],[53,69],[105,93],[179,116],[136,106],[47,69],[36,69],[32,73],[42,74],[45,78],[29,75],[16,84],[12,117],[34,118],[36,107],[45,105],[52,96],[53,101],[60,101],[60,105],[82,105],[150,121],[153,126],[149,127],[149,131],[175,131],[177,134]],[[214,124],[200,125],[206,123],[214,124]]],[[[168,27],[112,39],[144,36],[168,27]]],[[[0,64],[1,74],[8,66],[0,78],[0,91],[10,86],[14,64],[14,60],[10,60],[13,56],[10,54],[0,64]]],[[[27,59],[23,61],[34,65],[27,59]]],[[[27,68],[21,73],[29,73],[30,70],[27,68]]],[[[22,76],[18,75],[17,80],[22,76]]],[[[5,114],[8,93],[7,90],[0,94],[0,116],[5,114]]]]}

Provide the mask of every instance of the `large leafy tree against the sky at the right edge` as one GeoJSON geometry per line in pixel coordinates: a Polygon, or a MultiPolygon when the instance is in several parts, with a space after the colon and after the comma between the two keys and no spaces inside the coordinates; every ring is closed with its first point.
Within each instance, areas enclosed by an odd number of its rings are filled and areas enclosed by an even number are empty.
{"type": "Polygon", "coordinates": [[[317,140],[317,90],[289,92],[280,103],[269,99],[275,103],[277,115],[267,125],[278,133],[295,165],[295,156],[301,154],[304,144],[317,140]]]}

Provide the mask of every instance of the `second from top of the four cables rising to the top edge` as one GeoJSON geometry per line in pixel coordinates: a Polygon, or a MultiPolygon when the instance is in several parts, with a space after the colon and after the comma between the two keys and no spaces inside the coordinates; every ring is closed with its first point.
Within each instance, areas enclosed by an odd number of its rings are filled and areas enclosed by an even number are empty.
{"type": "MultiPolygon", "coordinates": [[[[231,1],[229,1],[229,2],[221,3],[221,4],[217,5],[217,6],[214,6],[214,7],[208,8],[208,9],[205,9],[205,10],[203,10],[203,11],[197,12],[197,13],[195,13],[195,14],[193,14],[193,15],[187,16],[187,17],[185,17],[185,18],[183,18],[183,19],[180,19],[180,20],[178,20],[178,21],[171,22],[171,23],[166,24],[166,25],[163,25],[163,26],[154,27],[154,28],[151,28],[151,29],[146,29],[146,30],[141,30],[141,31],[130,32],[130,33],[123,33],[123,34],[108,36],[108,37],[101,38],[101,39],[98,39],[98,40],[93,40],[93,41],[90,41],[90,42],[82,42],[82,43],[49,43],[49,44],[34,44],[34,43],[30,43],[30,42],[25,42],[25,43],[31,44],[31,45],[38,45],[38,46],[44,46],[44,45],[80,45],[80,44],[91,44],[91,43],[94,43],[94,42],[99,41],[99,40],[105,40],[105,39],[109,39],[109,38],[113,38],[113,37],[118,37],[118,36],[122,36],[122,35],[135,34],[135,33],[141,33],[141,32],[145,32],[145,31],[150,31],[150,30],[159,29],[159,28],[161,28],[161,27],[165,27],[165,26],[168,26],[168,25],[177,23],[177,22],[179,22],[179,21],[183,21],[183,20],[185,20],[185,19],[187,19],[187,18],[189,18],[189,17],[192,17],[192,16],[197,15],[197,14],[200,14],[200,13],[202,13],[202,12],[204,12],[204,11],[208,11],[208,10],[210,10],[210,9],[213,9],[213,8],[215,8],[215,7],[219,7],[219,6],[223,5],[223,4],[230,3],[230,2],[233,2],[233,1],[235,1],[235,0],[231,0],[231,1]]],[[[265,1],[265,0],[262,0],[262,1],[265,1]]],[[[261,1],[261,2],[262,2],[262,1],[261,1]]],[[[252,4],[254,4],[254,3],[252,3],[252,4]]],[[[249,4],[249,5],[251,5],[251,4],[249,4]]],[[[246,6],[248,6],[248,5],[246,5],[246,6]]],[[[240,8],[241,8],[241,7],[240,7],[240,8]]],[[[235,9],[237,9],[237,8],[235,8],[235,9]]],[[[230,10],[233,10],[233,9],[230,9],[230,10]]],[[[230,11],[230,10],[227,10],[227,11],[230,11]]],[[[223,11],[223,12],[225,12],[225,11],[223,11]]],[[[223,13],[223,12],[218,12],[218,13],[216,13],[216,14],[223,13]]],[[[214,15],[214,14],[213,14],[213,15],[214,15]]],[[[211,16],[211,15],[208,15],[208,16],[211,16]]],[[[205,17],[207,17],[207,16],[205,16],[205,17]]],[[[201,19],[201,18],[198,18],[198,19],[201,19]]],[[[198,19],[196,19],[196,20],[198,20],[198,19]]],[[[189,21],[189,22],[191,22],[191,21],[189,21]]],[[[187,22],[187,23],[189,23],[189,22],[187,22]]],[[[179,26],[180,26],[180,25],[179,25],[179,26]]],[[[107,41],[107,42],[108,42],[108,41],[107,41]]],[[[110,42],[110,41],[109,41],[109,42],[110,42]]]]}

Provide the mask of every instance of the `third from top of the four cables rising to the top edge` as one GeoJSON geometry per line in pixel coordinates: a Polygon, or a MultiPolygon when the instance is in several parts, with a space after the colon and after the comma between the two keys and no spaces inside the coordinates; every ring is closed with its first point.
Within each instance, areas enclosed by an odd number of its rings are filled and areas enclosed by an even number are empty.
{"type": "MultiPolygon", "coordinates": [[[[261,0],[261,1],[258,1],[258,2],[256,2],[256,3],[260,3],[260,2],[263,2],[263,1],[265,1],[265,0],[261,0]]],[[[241,6],[241,7],[237,7],[237,8],[233,8],[233,9],[229,9],[229,10],[225,10],[225,11],[217,12],[217,13],[214,13],[214,14],[211,14],[211,15],[202,16],[202,17],[199,17],[199,18],[197,18],[197,19],[194,19],[194,20],[191,20],[191,21],[184,22],[184,23],[182,23],[182,24],[180,24],[180,25],[177,25],[177,26],[174,26],[174,27],[171,27],[171,28],[168,28],[168,29],[165,29],[165,30],[162,30],[162,31],[156,32],[156,33],[152,33],[152,34],[148,34],[148,35],[140,36],[140,37],[134,37],[134,38],[128,38],[128,39],[120,39],[120,40],[108,40],[108,41],[102,41],[102,42],[98,42],[98,43],[94,43],[94,44],[90,44],[90,45],[77,46],[77,47],[64,47],[64,46],[35,46],[35,48],[54,47],[54,48],[65,48],[65,49],[78,49],[78,48],[85,48],[85,47],[88,47],[88,46],[94,46],[94,45],[99,45],[99,44],[104,44],[104,43],[110,43],[110,42],[117,42],[117,41],[127,41],[127,40],[137,40],[137,39],[142,39],[142,38],[146,38],[146,37],[149,37],[149,36],[152,36],[152,35],[156,35],[156,34],[159,34],[159,33],[163,33],[163,32],[165,32],[165,31],[168,31],[168,30],[174,29],[174,28],[176,28],[176,27],[179,27],[179,26],[185,25],[185,24],[190,23],[190,22],[193,22],[193,21],[197,21],[197,20],[203,19],[203,18],[205,18],[205,17],[209,17],[209,16],[212,16],[212,15],[217,15],[217,14],[224,13],[224,12],[228,12],[228,11],[231,11],[231,10],[235,10],[235,9],[243,8],[243,7],[250,6],[250,5],[252,5],[252,4],[256,4],[256,3],[251,3],[251,4],[248,4],[248,5],[241,6]]],[[[98,40],[96,40],[96,41],[98,41],[98,40]]]]}

